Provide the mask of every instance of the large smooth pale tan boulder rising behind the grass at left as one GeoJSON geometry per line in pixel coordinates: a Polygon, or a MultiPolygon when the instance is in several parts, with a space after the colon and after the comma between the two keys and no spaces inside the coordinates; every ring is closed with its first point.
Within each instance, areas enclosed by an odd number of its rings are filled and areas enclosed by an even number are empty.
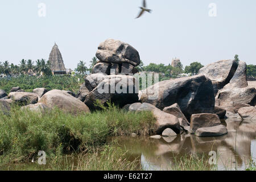
{"type": "Polygon", "coordinates": [[[50,109],[59,107],[68,113],[90,113],[90,109],[82,101],[64,90],[51,90],[44,94],[38,103],[44,104],[50,109]]]}

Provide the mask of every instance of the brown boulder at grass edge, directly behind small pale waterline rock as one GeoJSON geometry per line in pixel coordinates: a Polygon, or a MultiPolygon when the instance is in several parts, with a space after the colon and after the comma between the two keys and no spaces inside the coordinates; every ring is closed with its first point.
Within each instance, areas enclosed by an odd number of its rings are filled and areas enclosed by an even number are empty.
{"type": "Polygon", "coordinates": [[[180,133],[180,122],[176,116],[158,109],[152,110],[152,113],[156,118],[156,134],[161,135],[167,128],[174,130],[176,134],[180,133]]]}

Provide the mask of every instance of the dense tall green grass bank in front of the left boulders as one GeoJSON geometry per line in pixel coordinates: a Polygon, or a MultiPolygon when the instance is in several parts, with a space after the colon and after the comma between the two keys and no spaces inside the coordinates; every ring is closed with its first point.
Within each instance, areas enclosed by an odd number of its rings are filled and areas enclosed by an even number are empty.
{"type": "Polygon", "coordinates": [[[151,112],[127,113],[118,107],[72,115],[59,109],[40,114],[14,106],[0,114],[0,162],[26,162],[39,150],[49,158],[84,152],[106,143],[108,137],[148,135],[155,125],[151,112]]]}

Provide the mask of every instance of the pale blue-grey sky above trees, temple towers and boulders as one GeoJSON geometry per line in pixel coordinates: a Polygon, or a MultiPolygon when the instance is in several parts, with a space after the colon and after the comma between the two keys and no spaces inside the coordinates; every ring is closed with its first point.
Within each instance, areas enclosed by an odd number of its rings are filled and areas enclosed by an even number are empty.
{"type": "Polygon", "coordinates": [[[98,45],[112,38],[137,49],[144,64],[170,64],[177,57],[184,66],[207,65],[236,54],[256,64],[255,0],[147,0],[152,13],[135,19],[141,5],[141,0],[1,0],[0,61],[48,60],[56,42],[66,68],[76,68],[79,60],[89,66],[98,45]],[[39,16],[40,3],[46,16],[39,16]]]}

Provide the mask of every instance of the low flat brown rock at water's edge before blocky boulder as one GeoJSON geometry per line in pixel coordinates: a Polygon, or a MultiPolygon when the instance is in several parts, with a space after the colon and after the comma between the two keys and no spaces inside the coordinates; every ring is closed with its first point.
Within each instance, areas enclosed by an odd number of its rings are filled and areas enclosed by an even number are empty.
{"type": "Polygon", "coordinates": [[[197,137],[217,137],[225,135],[228,130],[223,125],[213,126],[213,127],[201,127],[196,130],[197,137]]]}

